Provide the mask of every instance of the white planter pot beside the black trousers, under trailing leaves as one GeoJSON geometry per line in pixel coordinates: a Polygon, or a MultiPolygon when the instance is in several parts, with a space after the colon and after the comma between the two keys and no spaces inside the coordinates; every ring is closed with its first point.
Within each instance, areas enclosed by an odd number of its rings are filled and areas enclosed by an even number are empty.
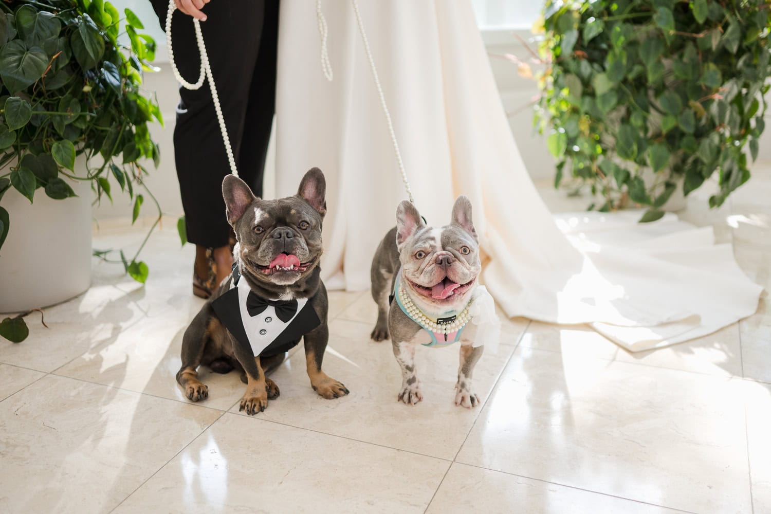
{"type": "MultiPolygon", "coordinates": [[[[76,170],[85,169],[77,160],[76,170]]],[[[52,200],[39,189],[30,204],[11,187],[0,200],[10,220],[0,248],[0,312],[58,304],[91,284],[91,186],[62,178],[78,197],[52,200]]]]}

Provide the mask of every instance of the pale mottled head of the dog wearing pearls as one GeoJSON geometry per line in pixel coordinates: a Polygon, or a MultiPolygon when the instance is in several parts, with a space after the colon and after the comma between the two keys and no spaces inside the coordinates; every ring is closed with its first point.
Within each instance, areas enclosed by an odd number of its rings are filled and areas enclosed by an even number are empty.
{"type": "Polygon", "coordinates": [[[469,199],[458,197],[445,227],[426,227],[406,200],[399,204],[396,221],[402,279],[410,296],[432,311],[462,308],[482,269],[469,199]]]}

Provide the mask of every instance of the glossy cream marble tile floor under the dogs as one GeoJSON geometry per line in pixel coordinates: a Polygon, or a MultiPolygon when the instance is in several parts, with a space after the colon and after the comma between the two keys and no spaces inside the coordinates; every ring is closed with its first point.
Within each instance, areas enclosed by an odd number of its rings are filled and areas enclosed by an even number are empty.
{"type": "MultiPolygon", "coordinates": [[[[739,264],[771,287],[771,176],[719,210],[692,198],[739,264]]],[[[582,200],[543,189],[555,210],[582,200]]],[[[96,247],[132,247],[106,230],[96,247]]],[[[0,512],[771,512],[771,309],[715,334],[630,354],[585,327],[507,321],[476,368],[480,408],[453,405],[455,349],[421,349],[425,399],[396,402],[389,343],[366,292],[330,294],[325,400],[294,351],[281,397],[238,412],[235,374],[207,401],[174,381],[202,301],[193,248],[166,223],[144,287],[94,261],[93,287],[0,341],[0,512]]],[[[729,301],[729,299],[726,299],[729,301]]]]}

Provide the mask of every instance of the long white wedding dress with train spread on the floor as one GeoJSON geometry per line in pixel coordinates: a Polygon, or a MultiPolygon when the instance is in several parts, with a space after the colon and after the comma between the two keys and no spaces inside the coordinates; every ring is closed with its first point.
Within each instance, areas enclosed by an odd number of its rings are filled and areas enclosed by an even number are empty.
{"type": "MultiPolygon", "coordinates": [[[[449,222],[460,194],[489,261],[487,285],[509,316],[591,324],[630,351],[709,334],[756,311],[762,289],[712,230],[673,215],[553,217],[530,181],[466,0],[360,0],[416,207],[449,222]]],[[[406,198],[350,2],[324,0],[334,79],[320,65],[315,2],[282,0],[276,191],[327,178],[323,276],[369,288],[372,254],[406,198]]],[[[373,320],[374,321],[374,320],[373,320]]]]}

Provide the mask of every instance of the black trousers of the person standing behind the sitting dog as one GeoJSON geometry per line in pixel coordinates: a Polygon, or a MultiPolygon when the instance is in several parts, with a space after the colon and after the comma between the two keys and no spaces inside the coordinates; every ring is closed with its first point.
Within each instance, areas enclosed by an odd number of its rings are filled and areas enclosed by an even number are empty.
{"type": "MultiPolygon", "coordinates": [[[[167,0],[152,0],[162,27],[167,0]]],[[[275,107],[278,0],[212,0],[201,22],[211,72],[231,139],[238,173],[258,197],[275,107]]],[[[195,82],[200,54],[192,18],[175,11],[174,61],[195,82]]],[[[187,239],[204,247],[228,244],[222,180],[231,173],[208,82],[197,91],[180,87],[174,161],[180,181],[187,239]]]]}

